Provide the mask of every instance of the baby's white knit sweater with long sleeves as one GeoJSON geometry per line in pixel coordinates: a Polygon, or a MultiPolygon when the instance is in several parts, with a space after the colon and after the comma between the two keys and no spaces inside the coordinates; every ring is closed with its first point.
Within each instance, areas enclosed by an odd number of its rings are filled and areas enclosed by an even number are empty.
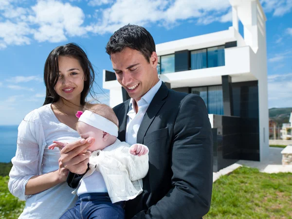
{"type": "MultiPolygon", "coordinates": [[[[143,191],[142,178],[146,176],[149,168],[148,152],[139,157],[130,154],[129,148],[129,144],[117,139],[103,150],[93,151],[89,159],[90,169],[79,185],[84,178],[90,177],[97,170],[104,178],[112,203],[137,197],[143,191]]],[[[76,194],[78,187],[73,194],[76,194]]]]}

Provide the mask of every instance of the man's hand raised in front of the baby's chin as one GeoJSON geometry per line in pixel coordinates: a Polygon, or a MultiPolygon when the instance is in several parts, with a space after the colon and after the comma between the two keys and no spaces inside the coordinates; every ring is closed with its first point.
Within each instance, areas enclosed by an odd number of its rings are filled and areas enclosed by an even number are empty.
{"type": "Polygon", "coordinates": [[[84,174],[89,163],[90,151],[87,149],[94,143],[94,138],[81,139],[69,143],[60,150],[60,161],[65,168],[73,173],[84,174]]]}

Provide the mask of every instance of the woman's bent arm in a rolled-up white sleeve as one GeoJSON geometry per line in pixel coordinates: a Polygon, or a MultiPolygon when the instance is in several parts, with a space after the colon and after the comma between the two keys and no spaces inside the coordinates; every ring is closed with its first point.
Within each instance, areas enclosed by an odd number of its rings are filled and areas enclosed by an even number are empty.
{"type": "Polygon", "coordinates": [[[44,136],[41,120],[34,110],[18,127],[17,151],[9,173],[9,191],[20,200],[26,200],[28,195],[34,195],[66,180],[64,175],[67,170],[60,165],[59,170],[38,175],[42,141],[44,136]]]}

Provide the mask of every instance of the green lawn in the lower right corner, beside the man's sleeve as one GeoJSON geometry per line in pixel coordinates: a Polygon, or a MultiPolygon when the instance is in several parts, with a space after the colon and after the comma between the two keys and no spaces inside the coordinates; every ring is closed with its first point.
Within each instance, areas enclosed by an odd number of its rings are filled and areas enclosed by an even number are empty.
{"type": "Polygon", "coordinates": [[[241,167],[213,184],[204,219],[292,219],[292,173],[241,167]]]}

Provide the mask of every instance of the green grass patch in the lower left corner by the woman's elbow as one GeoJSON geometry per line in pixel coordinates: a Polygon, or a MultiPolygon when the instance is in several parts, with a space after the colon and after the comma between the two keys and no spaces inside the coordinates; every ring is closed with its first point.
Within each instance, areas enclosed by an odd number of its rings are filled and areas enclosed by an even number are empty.
{"type": "Polygon", "coordinates": [[[0,219],[17,219],[25,202],[10,194],[8,190],[9,177],[0,176],[0,219]]]}

